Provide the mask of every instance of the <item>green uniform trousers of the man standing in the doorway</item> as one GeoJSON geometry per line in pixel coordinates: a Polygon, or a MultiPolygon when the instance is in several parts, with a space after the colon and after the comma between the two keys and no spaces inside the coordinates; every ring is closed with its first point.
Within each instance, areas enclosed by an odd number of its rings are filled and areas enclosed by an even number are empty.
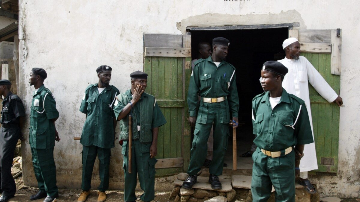
{"type": "MultiPolygon", "coordinates": [[[[226,102],[226,101],[225,101],[226,102]]],[[[220,102],[221,103],[221,102],[220,102]]],[[[224,167],[224,156],[228,148],[228,134],[230,120],[224,120],[225,109],[220,107],[220,103],[208,104],[200,107],[195,124],[193,145],[191,148],[191,158],[188,174],[195,175],[201,170],[207,155],[207,141],[209,139],[211,127],[213,127],[213,156],[209,165],[210,174],[219,176],[224,167]],[[206,117],[206,124],[198,123],[206,117]],[[221,123],[225,122],[225,123],[221,123]]]]}

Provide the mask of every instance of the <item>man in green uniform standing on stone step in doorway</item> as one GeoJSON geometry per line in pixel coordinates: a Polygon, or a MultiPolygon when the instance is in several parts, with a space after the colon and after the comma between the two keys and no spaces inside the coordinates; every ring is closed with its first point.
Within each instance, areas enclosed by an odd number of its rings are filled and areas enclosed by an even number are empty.
{"type": "Polygon", "coordinates": [[[221,189],[218,176],[222,174],[224,155],[228,147],[230,112],[233,117],[233,127],[238,127],[239,97],[235,82],[235,67],[224,61],[229,45],[230,42],[226,38],[214,38],[212,55],[207,59],[197,60],[190,77],[189,123],[195,125],[195,130],[188,169],[189,177],[182,185],[185,189],[191,189],[197,181],[197,173],[206,158],[206,143],[211,127],[214,131],[214,144],[213,160],[209,165],[209,183],[213,189],[221,189]],[[198,95],[201,97],[199,106],[198,95]]]}

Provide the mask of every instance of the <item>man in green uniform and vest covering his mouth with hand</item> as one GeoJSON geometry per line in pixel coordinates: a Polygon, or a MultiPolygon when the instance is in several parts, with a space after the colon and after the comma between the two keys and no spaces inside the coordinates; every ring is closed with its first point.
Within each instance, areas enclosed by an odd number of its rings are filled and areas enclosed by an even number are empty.
{"type": "Polygon", "coordinates": [[[135,201],[136,175],[144,193],[142,201],[155,197],[155,164],[157,160],[157,137],[159,127],[166,124],[155,97],[145,93],[148,74],[136,71],[130,74],[131,89],[117,96],[114,112],[120,121],[120,144],[122,144],[123,169],[125,175],[124,200],[135,201]],[[129,129],[129,115],[132,128],[129,129]],[[129,130],[132,131],[131,173],[129,173],[129,130]]]}

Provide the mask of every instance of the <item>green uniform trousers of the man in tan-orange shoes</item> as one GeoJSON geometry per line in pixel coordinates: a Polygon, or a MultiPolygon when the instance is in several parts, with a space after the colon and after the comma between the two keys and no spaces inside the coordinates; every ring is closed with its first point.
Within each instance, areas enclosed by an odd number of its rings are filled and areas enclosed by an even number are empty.
{"type": "Polygon", "coordinates": [[[87,191],[91,188],[91,176],[93,175],[96,156],[98,156],[99,159],[100,185],[98,190],[105,192],[109,188],[110,155],[110,149],[96,146],[82,146],[82,190],[87,191]]]}

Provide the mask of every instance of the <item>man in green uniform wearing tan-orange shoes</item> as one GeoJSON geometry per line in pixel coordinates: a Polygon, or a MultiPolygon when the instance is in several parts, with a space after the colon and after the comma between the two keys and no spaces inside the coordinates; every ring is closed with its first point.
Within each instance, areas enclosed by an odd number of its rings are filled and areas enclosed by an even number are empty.
{"type": "Polygon", "coordinates": [[[96,155],[99,159],[100,185],[98,202],[106,200],[105,191],[109,188],[109,168],[111,148],[114,147],[116,118],[112,111],[119,90],[110,85],[112,68],[107,65],[96,69],[99,82],[85,89],[80,111],[86,114],[86,120],[80,143],[82,144],[82,192],[78,202],[86,201],[90,194],[91,176],[96,155]]]}

